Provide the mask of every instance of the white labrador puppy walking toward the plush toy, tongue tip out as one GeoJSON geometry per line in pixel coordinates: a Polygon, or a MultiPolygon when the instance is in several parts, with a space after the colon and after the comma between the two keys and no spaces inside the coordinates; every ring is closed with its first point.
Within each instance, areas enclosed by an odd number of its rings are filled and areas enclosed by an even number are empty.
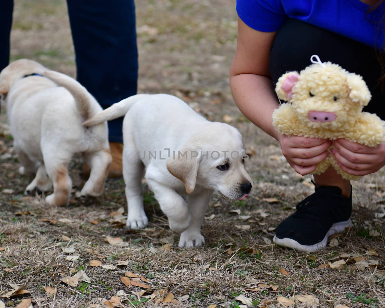
{"type": "Polygon", "coordinates": [[[85,126],[126,114],[123,121],[123,176],[127,228],[144,228],[142,176],[154,192],[179,247],[204,243],[201,225],[214,190],[243,199],[251,190],[244,167],[242,136],[234,127],[210,122],[167,94],[138,94],[118,102],[85,126]]]}

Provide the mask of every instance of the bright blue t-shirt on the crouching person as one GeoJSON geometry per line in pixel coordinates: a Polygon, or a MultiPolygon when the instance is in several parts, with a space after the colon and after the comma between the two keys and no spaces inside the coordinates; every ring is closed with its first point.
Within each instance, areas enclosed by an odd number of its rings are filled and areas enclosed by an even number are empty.
{"type": "Polygon", "coordinates": [[[384,28],[379,22],[385,2],[365,17],[369,8],[360,0],[237,0],[236,4],[239,18],[258,31],[277,31],[286,19],[296,18],[382,49],[384,28]]]}

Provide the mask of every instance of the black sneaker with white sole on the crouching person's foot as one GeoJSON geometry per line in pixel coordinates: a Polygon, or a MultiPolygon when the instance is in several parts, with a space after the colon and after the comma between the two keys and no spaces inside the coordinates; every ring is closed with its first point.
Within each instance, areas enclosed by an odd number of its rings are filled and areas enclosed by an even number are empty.
{"type": "Polygon", "coordinates": [[[349,198],[341,192],[337,186],[316,186],[315,193],[298,203],[297,211],[278,225],[274,243],[301,251],[325,247],[329,236],[352,225],[352,187],[349,198]]]}

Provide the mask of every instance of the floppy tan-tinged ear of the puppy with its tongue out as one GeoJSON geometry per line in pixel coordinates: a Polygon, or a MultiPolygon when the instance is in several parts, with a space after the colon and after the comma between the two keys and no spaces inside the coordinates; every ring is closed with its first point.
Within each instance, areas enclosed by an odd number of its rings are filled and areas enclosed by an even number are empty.
{"type": "Polygon", "coordinates": [[[183,182],[187,194],[194,191],[200,160],[198,151],[182,148],[167,161],[167,170],[183,182]]]}

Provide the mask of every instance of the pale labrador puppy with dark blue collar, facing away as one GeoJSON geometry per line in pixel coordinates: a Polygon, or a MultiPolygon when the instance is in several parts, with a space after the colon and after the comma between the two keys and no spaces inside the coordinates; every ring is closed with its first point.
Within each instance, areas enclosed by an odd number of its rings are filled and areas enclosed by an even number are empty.
{"type": "Polygon", "coordinates": [[[73,154],[81,152],[92,168],[81,194],[99,196],[112,158],[107,123],[82,126],[102,111],[94,97],[71,77],[27,59],[12,62],[2,70],[0,94],[22,164],[19,172],[35,175],[26,193],[48,191],[53,184],[54,193],[45,201],[66,205],[72,187],[67,164],[73,154]]]}

